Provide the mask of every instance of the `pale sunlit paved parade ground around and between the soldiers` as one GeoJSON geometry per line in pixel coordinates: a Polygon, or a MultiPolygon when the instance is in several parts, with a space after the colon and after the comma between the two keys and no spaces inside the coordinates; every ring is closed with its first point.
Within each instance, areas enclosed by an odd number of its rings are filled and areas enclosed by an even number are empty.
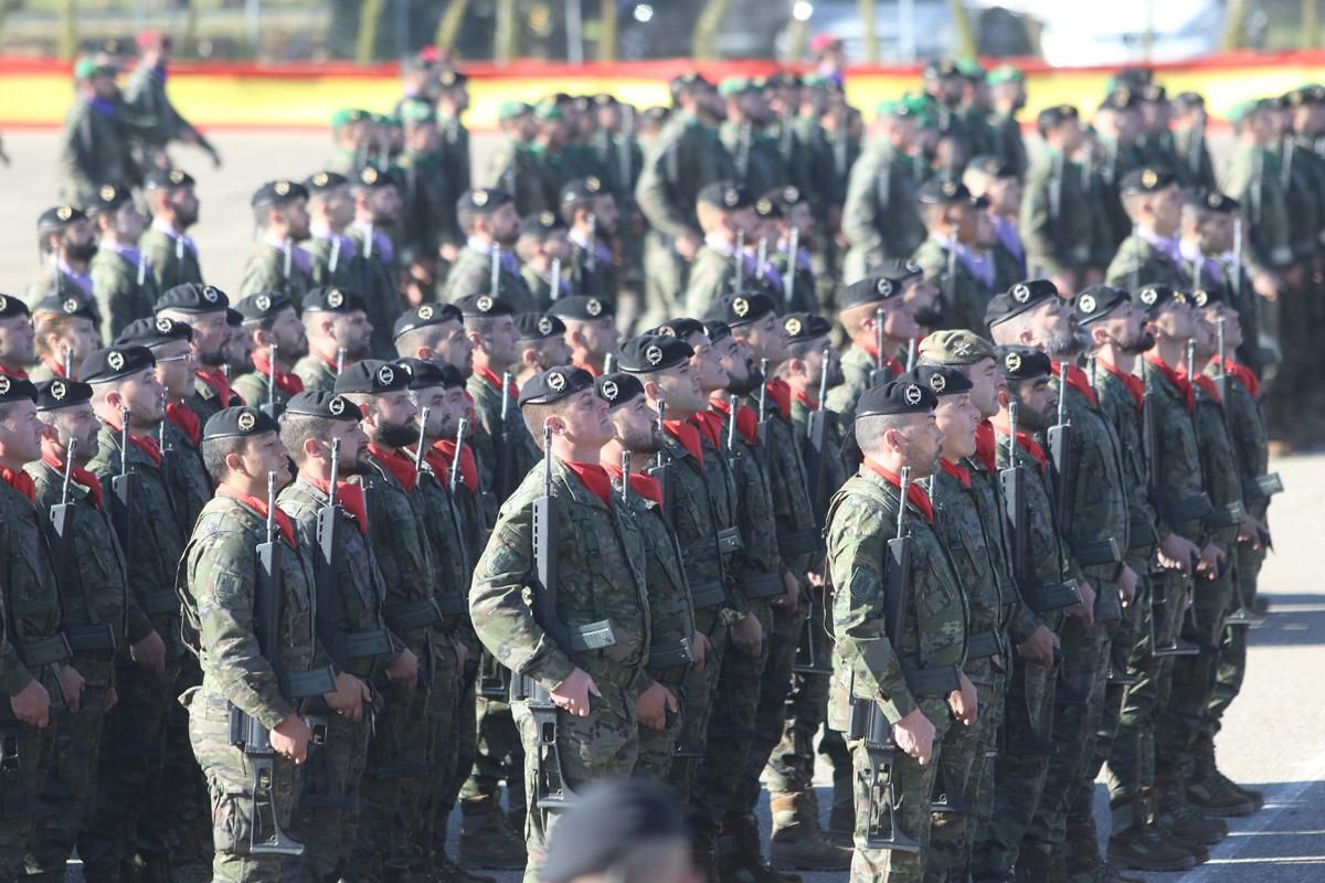
{"type": "MultiPolygon", "coordinates": [[[[13,165],[0,167],[0,293],[21,291],[38,271],[37,214],[54,203],[56,136],[5,135],[13,165]]],[[[213,138],[227,159],[213,171],[196,154],[180,164],[199,180],[203,221],[193,232],[204,271],[220,287],[238,283],[252,241],[248,197],[280,176],[302,179],[330,152],[322,135],[227,135],[213,138]]],[[[482,151],[484,140],[476,143],[482,151]]],[[[1308,883],[1325,879],[1325,706],[1312,673],[1325,671],[1325,586],[1313,549],[1325,512],[1325,455],[1293,457],[1275,465],[1287,492],[1272,510],[1276,553],[1265,564],[1263,590],[1269,620],[1252,634],[1243,695],[1219,736],[1223,768],[1238,781],[1264,788],[1265,809],[1232,825],[1232,835],[1212,850],[1211,862],[1183,875],[1154,875],[1174,883],[1308,883]]],[[[828,777],[820,802],[828,804],[828,777]]],[[[1101,831],[1108,829],[1102,788],[1101,831]]],[[[763,808],[767,827],[767,808],[763,808]]],[[[454,842],[454,837],[452,838],[454,842]]],[[[810,883],[845,875],[810,875],[810,883]]],[[[77,868],[70,880],[80,880],[77,868]]],[[[205,874],[182,875],[186,880],[205,874]]],[[[514,882],[517,875],[502,875],[514,882]]]]}

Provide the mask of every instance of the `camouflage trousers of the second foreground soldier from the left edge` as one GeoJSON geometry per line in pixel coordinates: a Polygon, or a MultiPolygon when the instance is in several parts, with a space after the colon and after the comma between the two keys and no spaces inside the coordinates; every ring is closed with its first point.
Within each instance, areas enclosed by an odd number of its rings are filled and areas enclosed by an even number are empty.
{"type": "Polygon", "coordinates": [[[37,822],[28,858],[29,880],[49,878],[64,883],[65,862],[78,841],[83,817],[97,800],[97,761],[109,694],[110,687],[85,687],[78,712],[60,712],[52,727],[54,748],[41,800],[54,812],[37,822]]]}

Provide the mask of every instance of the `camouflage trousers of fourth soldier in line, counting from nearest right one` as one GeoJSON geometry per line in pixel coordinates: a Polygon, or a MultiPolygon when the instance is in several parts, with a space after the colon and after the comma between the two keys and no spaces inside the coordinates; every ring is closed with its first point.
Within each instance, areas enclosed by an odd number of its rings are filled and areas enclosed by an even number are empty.
{"type": "MultiPolygon", "coordinates": [[[[1100,592],[1116,592],[1113,582],[1098,582],[1100,592]]],[[[1086,626],[1068,617],[1059,639],[1063,643],[1061,682],[1053,710],[1053,741],[1059,753],[1049,757],[1044,789],[1027,829],[1027,843],[1063,843],[1067,839],[1068,806],[1077,786],[1094,763],[1094,733],[1104,708],[1109,673],[1109,642],[1117,620],[1086,626]]],[[[1094,776],[1090,776],[1094,781],[1094,776]]]]}

